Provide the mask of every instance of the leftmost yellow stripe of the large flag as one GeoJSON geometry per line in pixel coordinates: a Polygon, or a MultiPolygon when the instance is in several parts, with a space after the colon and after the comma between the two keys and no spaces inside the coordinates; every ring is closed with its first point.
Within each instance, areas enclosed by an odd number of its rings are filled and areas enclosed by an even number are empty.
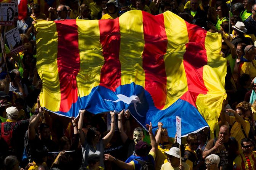
{"type": "Polygon", "coordinates": [[[37,37],[43,37],[36,40],[37,50],[40,51],[37,55],[37,71],[41,79],[43,78],[40,104],[51,111],[59,111],[61,91],[57,65],[58,32],[56,24],[42,20],[36,25],[37,37]]]}

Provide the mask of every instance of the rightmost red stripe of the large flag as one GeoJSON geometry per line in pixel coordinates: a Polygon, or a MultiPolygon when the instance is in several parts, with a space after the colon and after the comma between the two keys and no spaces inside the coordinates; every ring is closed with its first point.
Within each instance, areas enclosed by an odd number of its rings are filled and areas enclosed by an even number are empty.
{"type": "Polygon", "coordinates": [[[199,94],[207,94],[208,91],[203,81],[203,66],[207,64],[205,49],[207,31],[187,22],[186,25],[189,43],[186,44],[183,64],[187,77],[188,91],[180,99],[186,100],[196,107],[197,96],[199,94]]]}

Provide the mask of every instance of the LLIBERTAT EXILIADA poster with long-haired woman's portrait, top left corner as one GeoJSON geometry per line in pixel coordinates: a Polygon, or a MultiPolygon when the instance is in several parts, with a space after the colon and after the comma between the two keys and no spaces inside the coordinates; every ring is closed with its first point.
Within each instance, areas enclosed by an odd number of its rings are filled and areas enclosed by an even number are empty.
{"type": "Polygon", "coordinates": [[[0,3],[0,25],[13,25],[15,3],[0,3]]]}

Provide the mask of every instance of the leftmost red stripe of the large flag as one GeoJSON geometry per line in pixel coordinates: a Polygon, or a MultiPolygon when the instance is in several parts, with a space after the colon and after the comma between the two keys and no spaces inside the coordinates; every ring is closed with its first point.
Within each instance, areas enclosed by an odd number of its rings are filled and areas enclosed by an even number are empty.
{"type": "Polygon", "coordinates": [[[59,111],[67,112],[77,102],[76,76],[80,69],[76,20],[55,21],[58,32],[57,64],[61,87],[59,111]]]}

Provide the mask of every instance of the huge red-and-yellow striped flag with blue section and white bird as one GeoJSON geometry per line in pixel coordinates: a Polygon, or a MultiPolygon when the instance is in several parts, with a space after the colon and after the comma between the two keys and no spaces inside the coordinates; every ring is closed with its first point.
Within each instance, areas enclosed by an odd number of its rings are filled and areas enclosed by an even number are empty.
{"type": "Polygon", "coordinates": [[[41,21],[37,69],[41,106],[64,116],[129,109],[169,136],[214,125],[226,99],[221,35],[166,11],[128,11],[113,20],[41,21]]]}

